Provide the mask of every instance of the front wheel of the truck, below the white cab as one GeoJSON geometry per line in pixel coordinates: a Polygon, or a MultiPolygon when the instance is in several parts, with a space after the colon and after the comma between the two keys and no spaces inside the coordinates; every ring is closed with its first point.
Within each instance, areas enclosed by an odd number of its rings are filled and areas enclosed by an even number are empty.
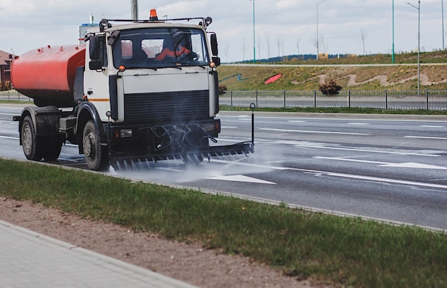
{"type": "Polygon", "coordinates": [[[109,152],[106,147],[101,146],[101,140],[96,134],[95,125],[91,120],[84,127],[82,147],[84,148],[84,158],[91,170],[105,170],[108,167],[109,152]]]}

